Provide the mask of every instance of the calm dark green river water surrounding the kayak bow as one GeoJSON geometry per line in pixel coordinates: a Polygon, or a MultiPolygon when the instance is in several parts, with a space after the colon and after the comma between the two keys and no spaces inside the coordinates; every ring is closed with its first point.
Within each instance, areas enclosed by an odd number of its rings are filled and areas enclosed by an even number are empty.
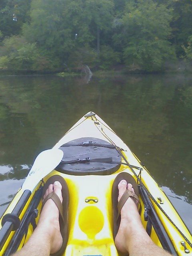
{"type": "Polygon", "coordinates": [[[148,168],[192,232],[192,76],[0,76],[0,216],[35,157],[88,111],[148,168]]]}

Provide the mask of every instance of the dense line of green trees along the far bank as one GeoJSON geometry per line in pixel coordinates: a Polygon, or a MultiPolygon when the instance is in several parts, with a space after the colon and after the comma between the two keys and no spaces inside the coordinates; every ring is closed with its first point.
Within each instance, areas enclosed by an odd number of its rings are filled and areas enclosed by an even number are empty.
{"type": "Polygon", "coordinates": [[[1,0],[0,70],[162,70],[192,60],[191,0],[1,0]]]}

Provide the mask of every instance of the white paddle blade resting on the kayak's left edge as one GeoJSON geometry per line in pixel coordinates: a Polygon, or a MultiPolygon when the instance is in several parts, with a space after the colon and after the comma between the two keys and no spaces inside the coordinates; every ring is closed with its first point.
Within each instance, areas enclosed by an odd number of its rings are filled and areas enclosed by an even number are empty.
{"type": "Polygon", "coordinates": [[[32,192],[38,182],[58,166],[62,158],[63,151],[60,149],[48,149],[38,154],[22,185],[22,190],[28,189],[32,192]]]}

